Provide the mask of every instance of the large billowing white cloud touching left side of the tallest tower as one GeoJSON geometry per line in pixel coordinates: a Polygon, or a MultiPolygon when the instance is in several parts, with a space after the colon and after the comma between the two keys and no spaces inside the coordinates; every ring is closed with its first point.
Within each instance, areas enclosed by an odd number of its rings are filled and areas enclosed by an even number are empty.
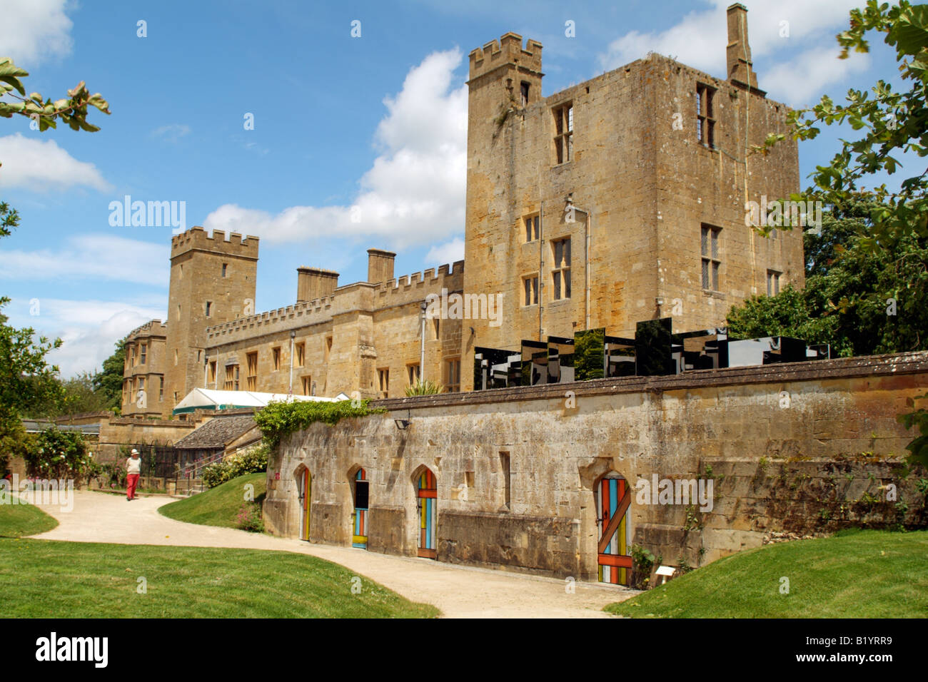
{"type": "MultiPolygon", "coordinates": [[[[292,206],[277,214],[226,204],[203,226],[269,242],[380,237],[402,249],[459,234],[467,171],[467,86],[452,88],[459,50],[436,52],[406,75],[375,141],[381,150],[350,206],[292,206]]],[[[383,243],[387,242],[387,243],[383,243]]]]}

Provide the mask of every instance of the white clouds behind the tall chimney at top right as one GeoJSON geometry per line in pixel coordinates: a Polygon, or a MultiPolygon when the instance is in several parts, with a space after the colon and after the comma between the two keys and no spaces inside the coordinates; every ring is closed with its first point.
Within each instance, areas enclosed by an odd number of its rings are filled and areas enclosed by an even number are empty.
{"type": "MultiPolygon", "coordinates": [[[[728,21],[726,9],[730,0],[710,0],[711,7],[694,10],[676,24],[662,32],[640,33],[632,31],[615,39],[605,53],[599,55],[599,65],[604,70],[616,69],[628,62],[643,58],[650,52],[677,58],[678,61],[696,69],[725,77],[728,44],[728,21]]],[[[848,25],[848,12],[860,5],[860,0],[817,0],[810,6],[808,0],[778,0],[778,2],[756,2],[748,7],[748,41],[754,66],[758,61],[779,62],[781,57],[793,58],[793,64],[817,67],[811,74],[794,71],[793,80],[800,80],[802,73],[806,84],[802,89],[813,94],[825,86],[835,83],[855,66],[814,62],[823,57],[821,45],[833,45],[836,32],[848,25]],[[787,33],[784,37],[783,33],[787,33]],[[809,49],[806,50],[805,48],[809,49]]],[[[829,51],[828,60],[832,60],[829,51]]],[[[837,60],[834,58],[833,60],[837,60]]],[[[779,69],[778,69],[779,71],[779,69]]],[[[784,87],[784,79],[778,73],[769,78],[761,68],[758,84],[770,92],[773,98],[789,98],[792,91],[784,87]]]]}

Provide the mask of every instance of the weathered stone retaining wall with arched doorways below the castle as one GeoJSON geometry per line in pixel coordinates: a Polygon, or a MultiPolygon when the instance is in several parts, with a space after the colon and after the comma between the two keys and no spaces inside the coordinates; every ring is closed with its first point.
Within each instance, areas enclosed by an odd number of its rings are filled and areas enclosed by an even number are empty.
{"type": "Polygon", "coordinates": [[[629,539],[665,560],[715,560],[774,530],[912,525],[923,520],[913,487],[923,473],[904,478],[899,457],[913,436],[896,415],[926,387],[928,353],[916,353],[380,401],[388,414],[292,434],[268,469],[264,513],[273,532],[299,534],[297,480],[308,468],[310,539],[348,545],[363,467],[368,548],[414,556],[414,481],[428,467],[438,560],[583,579],[597,572],[594,490],[610,472],[632,485],[654,474],[713,480],[704,513],[633,499],[629,539]],[[864,496],[887,483],[909,512],[864,496]]]}

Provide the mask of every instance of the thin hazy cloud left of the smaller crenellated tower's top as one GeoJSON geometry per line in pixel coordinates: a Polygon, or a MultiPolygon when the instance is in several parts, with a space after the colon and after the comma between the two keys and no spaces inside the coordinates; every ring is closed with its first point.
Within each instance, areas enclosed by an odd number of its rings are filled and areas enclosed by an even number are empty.
{"type": "Polygon", "coordinates": [[[169,276],[169,254],[163,243],[107,234],[77,235],[61,249],[0,251],[0,279],[58,280],[67,286],[78,277],[110,279],[164,287],[169,276]]]}

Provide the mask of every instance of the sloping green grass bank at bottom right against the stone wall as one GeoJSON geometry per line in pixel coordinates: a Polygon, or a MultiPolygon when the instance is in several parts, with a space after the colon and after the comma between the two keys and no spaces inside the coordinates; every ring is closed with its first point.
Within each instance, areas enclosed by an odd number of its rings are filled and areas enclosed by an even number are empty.
{"type": "Polygon", "coordinates": [[[757,547],[606,611],[636,618],[926,618],[928,531],[757,547]],[[780,578],[789,594],[780,593],[780,578]]]}

